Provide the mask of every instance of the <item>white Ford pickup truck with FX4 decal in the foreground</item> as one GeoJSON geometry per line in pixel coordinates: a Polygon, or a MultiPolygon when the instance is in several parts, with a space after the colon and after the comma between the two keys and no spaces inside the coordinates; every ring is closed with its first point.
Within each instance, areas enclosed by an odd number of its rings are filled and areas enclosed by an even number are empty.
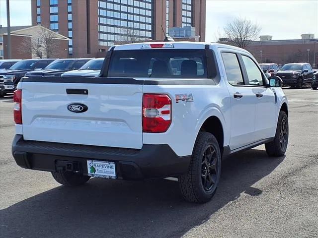
{"type": "Polygon", "coordinates": [[[288,103],[250,53],[153,42],[109,49],[98,77],[25,77],[14,92],[12,154],[64,185],[91,177],[178,177],[187,201],[207,202],[221,158],[260,144],[284,155],[288,103]]]}

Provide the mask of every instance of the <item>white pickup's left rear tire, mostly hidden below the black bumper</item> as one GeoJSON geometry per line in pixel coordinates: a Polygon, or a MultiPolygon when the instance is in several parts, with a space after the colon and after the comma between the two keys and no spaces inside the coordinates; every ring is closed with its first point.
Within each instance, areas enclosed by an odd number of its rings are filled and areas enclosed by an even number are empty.
{"type": "Polygon", "coordinates": [[[71,171],[52,172],[52,176],[58,183],[61,183],[62,185],[65,185],[65,186],[82,185],[90,179],[89,176],[75,174],[74,172],[71,172],[71,171]]]}

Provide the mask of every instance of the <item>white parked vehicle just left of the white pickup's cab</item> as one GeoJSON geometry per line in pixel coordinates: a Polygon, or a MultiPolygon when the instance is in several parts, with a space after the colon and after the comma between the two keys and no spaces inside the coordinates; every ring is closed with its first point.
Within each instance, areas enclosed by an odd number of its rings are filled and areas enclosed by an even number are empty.
{"type": "Polygon", "coordinates": [[[68,71],[62,74],[62,76],[86,76],[96,77],[100,73],[101,66],[103,65],[104,58],[92,59],[86,62],[77,70],[68,71]]]}

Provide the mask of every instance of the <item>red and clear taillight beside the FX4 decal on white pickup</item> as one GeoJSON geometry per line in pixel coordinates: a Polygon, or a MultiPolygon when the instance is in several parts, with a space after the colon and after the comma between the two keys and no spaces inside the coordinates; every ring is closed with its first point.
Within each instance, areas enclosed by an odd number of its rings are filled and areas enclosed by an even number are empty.
{"type": "Polygon", "coordinates": [[[172,120],[171,99],[166,94],[144,94],[143,132],[160,133],[169,128],[172,120]]]}

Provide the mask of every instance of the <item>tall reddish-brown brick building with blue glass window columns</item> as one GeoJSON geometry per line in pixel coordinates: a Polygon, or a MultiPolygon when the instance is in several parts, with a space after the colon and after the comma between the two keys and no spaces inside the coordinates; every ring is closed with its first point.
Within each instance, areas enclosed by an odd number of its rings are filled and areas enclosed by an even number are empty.
{"type": "Polygon", "coordinates": [[[194,27],[205,40],[205,0],[31,0],[32,25],[69,37],[70,57],[104,56],[120,42],[163,40],[194,27]],[[163,29],[163,30],[162,30],[163,29]]]}

